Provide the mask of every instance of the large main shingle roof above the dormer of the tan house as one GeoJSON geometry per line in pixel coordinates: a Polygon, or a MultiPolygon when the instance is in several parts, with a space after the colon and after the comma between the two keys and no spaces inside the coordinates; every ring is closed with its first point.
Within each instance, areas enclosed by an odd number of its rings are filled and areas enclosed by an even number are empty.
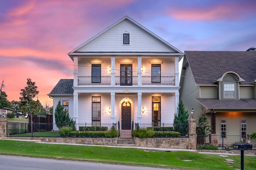
{"type": "Polygon", "coordinates": [[[238,73],[245,82],[256,79],[255,51],[185,51],[184,53],[196,84],[213,84],[214,80],[228,71],[238,73]]]}

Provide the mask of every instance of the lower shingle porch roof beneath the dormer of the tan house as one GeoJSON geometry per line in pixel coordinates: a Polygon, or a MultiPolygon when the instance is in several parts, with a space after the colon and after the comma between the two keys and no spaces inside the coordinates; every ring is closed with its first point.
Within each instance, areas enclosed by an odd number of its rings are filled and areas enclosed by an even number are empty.
{"type": "Polygon", "coordinates": [[[208,109],[256,109],[256,100],[254,99],[218,100],[197,98],[196,100],[208,109]]]}

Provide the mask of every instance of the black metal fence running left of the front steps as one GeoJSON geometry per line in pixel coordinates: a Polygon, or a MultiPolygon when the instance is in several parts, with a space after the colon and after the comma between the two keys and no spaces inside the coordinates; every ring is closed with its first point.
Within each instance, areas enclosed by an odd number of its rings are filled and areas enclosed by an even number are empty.
{"type": "Polygon", "coordinates": [[[117,123],[56,123],[7,122],[7,137],[116,137],[117,123]]]}

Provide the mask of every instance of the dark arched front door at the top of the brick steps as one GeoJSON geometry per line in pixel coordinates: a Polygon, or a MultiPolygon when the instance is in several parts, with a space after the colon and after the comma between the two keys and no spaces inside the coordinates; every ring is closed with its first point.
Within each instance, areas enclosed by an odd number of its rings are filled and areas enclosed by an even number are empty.
{"type": "Polygon", "coordinates": [[[130,102],[122,104],[122,130],[131,130],[132,128],[131,104],[130,102]]]}

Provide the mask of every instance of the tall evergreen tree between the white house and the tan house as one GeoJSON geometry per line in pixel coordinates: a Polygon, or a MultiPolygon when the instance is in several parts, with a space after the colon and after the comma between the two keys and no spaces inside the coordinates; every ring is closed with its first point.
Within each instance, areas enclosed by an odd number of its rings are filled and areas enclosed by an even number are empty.
{"type": "Polygon", "coordinates": [[[174,130],[182,136],[188,133],[188,111],[185,110],[182,100],[178,104],[178,115],[174,115],[174,130]]]}

